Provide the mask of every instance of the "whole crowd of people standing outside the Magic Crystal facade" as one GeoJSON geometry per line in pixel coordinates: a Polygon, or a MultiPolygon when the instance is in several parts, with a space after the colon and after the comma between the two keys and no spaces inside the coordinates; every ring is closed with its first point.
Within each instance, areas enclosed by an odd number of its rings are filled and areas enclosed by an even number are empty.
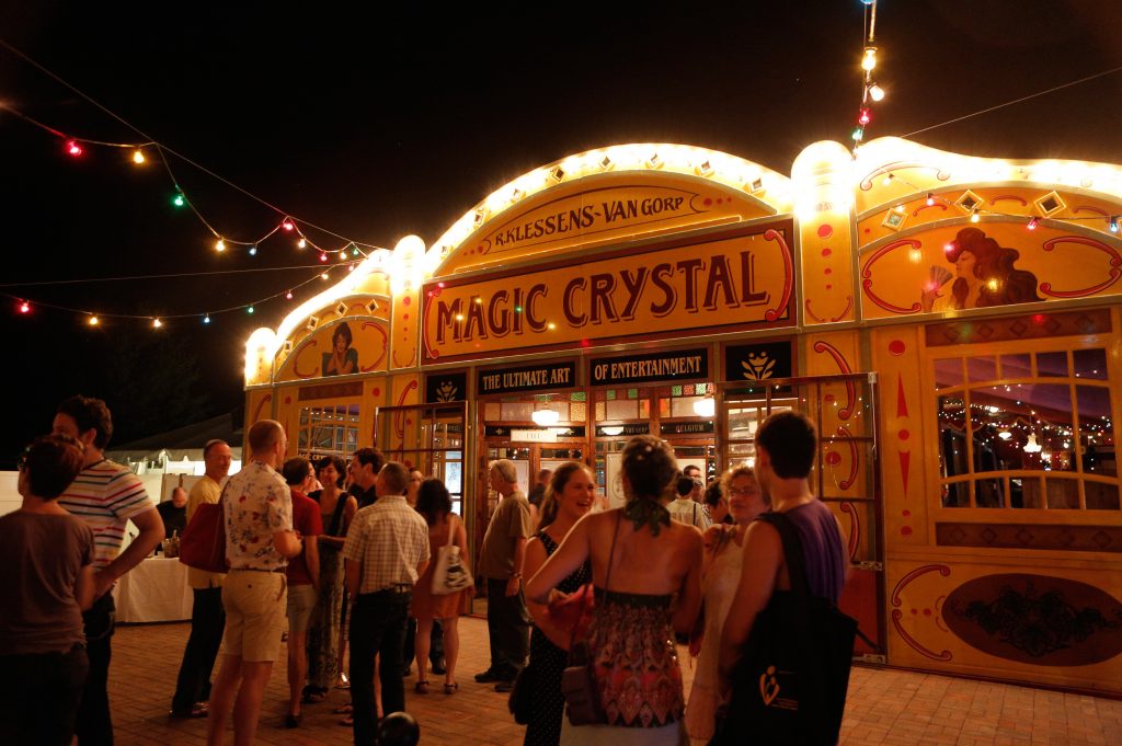
{"type": "MultiPolygon", "coordinates": [[[[229,567],[188,572],[194,609],[171,715],[209,718],[208,744],[224,743],[231,717],[234,743],[254,742],[284,635],[289,728],[303,706],[349,687],[340,713],[357,745],[416,743],[419,726],[404,715],[412,661],[415,694],[432,692],[430,669],[444,696],[459,690],[458,619],[475,587],[438,592],[441,549],[468,556],[439,479],[371,448],[349,463],[286,459],[283,426],[264,420],[249,429],[239,472],[228,473],[229,444],[212,441],[202,479],[157,509],[103,455],[112,433],[103,402],[63,402],[53,431],[20,463],[21,508],[0,518],[0,743],[112,744],[109,591],[164,538],[164,516],[182,509],[190,524],[205,504],[221,503],[229,567]],[[139,534],[122,551],[128,521],[139,534]]],[[[815,439],[804,416],[773,415],[754,468],[707,488],[697,467],[679,470],[669,444],[636,436],[623,452],[625,504],[613,509],[582,463],[539,473],[533,500],[513,462],[489,466],[499,499],[476,571],[490,665],[475,679],[523,690],[527,746],[710,743],[754,619],[791,587],[779,533],[756,517],[775,510],[795,526],[815,596],[836,602],[845,582],[839,525],[809,487],[815,439]],[[697,656],[688,699],[675,637],[697,656]],[[580,641],[601,715],[574,725],[562,678],[580,641]]]]}

